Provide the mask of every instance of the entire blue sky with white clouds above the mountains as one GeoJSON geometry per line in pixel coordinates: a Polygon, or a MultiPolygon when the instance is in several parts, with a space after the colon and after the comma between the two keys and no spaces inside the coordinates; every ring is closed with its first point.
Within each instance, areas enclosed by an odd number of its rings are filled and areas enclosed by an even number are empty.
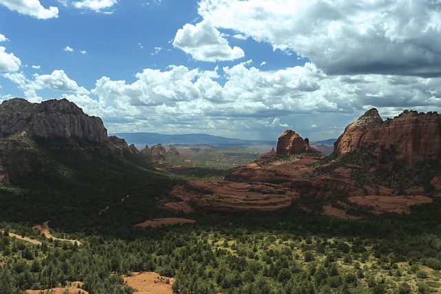
{"type": "Polygon", "coordinates": [[[0,0],[0,101],[67,98],[110,134],[338,138],[441,113],[440,0],[0,0]]]}

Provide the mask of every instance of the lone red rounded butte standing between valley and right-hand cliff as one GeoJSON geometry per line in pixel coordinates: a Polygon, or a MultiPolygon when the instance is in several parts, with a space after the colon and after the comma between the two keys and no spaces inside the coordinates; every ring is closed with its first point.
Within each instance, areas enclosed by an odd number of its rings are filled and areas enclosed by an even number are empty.
{"type": "Polygon", "coordinates": [[[278,138],[276,154],[305,154],[317,152],[309,146],[308,138],[303,138],[291,129],[287,129],[285,133],[278,138]]]}

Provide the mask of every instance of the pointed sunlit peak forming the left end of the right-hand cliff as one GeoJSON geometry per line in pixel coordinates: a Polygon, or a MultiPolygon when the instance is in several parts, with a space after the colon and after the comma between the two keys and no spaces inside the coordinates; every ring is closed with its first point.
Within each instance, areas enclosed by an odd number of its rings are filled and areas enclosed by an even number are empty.
{"type": "Polygon", "coordinates": [[[377,144],[382,123],[383,120],[377,109],[368,110],[345,128],[345,132],[334,143],[334,151],[345,154],[377,144]]]}

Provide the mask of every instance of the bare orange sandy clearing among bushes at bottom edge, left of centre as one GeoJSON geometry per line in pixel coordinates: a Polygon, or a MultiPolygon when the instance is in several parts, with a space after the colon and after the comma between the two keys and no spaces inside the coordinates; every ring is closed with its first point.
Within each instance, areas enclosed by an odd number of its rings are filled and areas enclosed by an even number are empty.
{"type": "Polygon", "coordinates": [[[172,294],[172,284],[174,279],[172,277],[161,277],[157,273],[133,273],[131,277],[125,277],[124,282],[127,285],[135,288],[135,294],[172,294]],[[167,284],[166,281],[170,280],[167,284]]]}

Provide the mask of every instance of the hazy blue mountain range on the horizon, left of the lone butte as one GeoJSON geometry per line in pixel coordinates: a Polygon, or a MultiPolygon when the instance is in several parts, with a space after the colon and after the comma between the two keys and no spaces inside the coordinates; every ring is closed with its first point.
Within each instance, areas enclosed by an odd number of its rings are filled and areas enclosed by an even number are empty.
{"type": "Polygon", "coordinates": [[[242,140],[234,138],[225,138],[207,134],[178,134],[166,135],[157,133],[116,133],[113,134],[119,138],[124,138],[127,143],[134,144],[137,147],[145,145],[197,145],[209,144],[215,147],[219,146],[258,146],[271,145],[276,147],[276,140],[242,140]]]}

